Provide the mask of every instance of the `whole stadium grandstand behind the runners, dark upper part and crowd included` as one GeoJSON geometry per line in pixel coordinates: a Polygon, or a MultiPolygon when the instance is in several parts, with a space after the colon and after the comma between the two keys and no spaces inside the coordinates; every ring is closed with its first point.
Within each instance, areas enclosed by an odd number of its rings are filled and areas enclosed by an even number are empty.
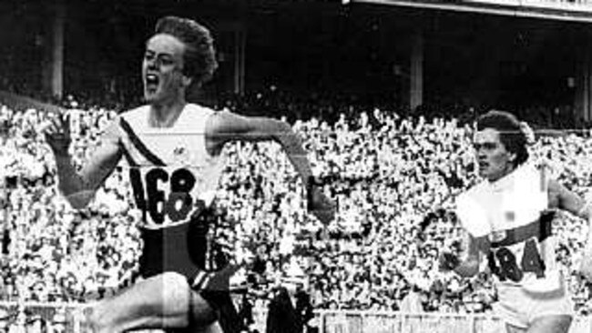
{"type": "MultiPolygon", "coordinates": [[[[193,98],[286,119],[338,202],[323,227],[279,146],[225,147],[211,237],[244,267],[234,300],[253,309],[246,331],[265,331],[270,295],[290,279],[310,295],[307,332],[502,329],[492,278],[442,272],[445,237],[416,241],[426,221],[454,225],[454,197],[478,180],[474,121],[491,107],[528,121],[532,158],[592,200],[590,1],[3,1],[0,332],[88,332],[87,308],[136,278],[128,166],[74,209],[40,133],[67,113],[81,165],[141,102],[143,42],[169,14],[216,37],[219,73],[193,98]]],[[[559,214],[553,227],[570,332],[590,332],[592,284],[577,272],[587,226],[559,214]]]]}

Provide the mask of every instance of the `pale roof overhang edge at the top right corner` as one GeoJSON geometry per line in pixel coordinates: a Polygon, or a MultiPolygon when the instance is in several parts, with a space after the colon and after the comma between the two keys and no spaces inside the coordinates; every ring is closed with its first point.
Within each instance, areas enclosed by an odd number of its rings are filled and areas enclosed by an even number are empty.
{"type": "Polygon", "coordinates": [[[592,4],[546,0],[342,0],[343,4],[393,5],[487,15],[592,23],[592,4]]]}

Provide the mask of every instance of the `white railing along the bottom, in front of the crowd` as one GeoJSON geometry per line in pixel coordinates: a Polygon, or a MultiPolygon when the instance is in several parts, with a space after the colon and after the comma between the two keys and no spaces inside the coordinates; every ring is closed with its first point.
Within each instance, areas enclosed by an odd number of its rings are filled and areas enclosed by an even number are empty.
{"type": "MultiPolygon", "coordinates": [[[[0,333],[16,331],[91,332],[85,313],[88,304],[0,302],[0,333]],[[22,328],[22,330],[18,330],[22,328]]],[[[319,310],[312,319],[319,333],[494,333],[505,331],[493,316],[442,313],[319,310]],[[500,330],[500,328],[502,328],[500,330]]],[[[266,311],[255,311],[255,328],[265,331],[266,311]]],[[[592,331],[592,317],[577,317],[569,333],[592,331]]],[[[161,332],[150,330],[143,332],[161,332]]]]}

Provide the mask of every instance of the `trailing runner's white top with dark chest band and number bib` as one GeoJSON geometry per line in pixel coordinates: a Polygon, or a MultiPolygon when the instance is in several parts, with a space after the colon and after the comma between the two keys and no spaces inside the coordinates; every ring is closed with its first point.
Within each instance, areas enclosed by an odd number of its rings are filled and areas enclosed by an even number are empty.
{"type": "Polygon", "coordinates": [[[519,166],[495,183],[483,182],[457,200],[463,227],[486,237],[489,267],[499,287],[560,288],[549,177],[545,167],[519,166]]]}

